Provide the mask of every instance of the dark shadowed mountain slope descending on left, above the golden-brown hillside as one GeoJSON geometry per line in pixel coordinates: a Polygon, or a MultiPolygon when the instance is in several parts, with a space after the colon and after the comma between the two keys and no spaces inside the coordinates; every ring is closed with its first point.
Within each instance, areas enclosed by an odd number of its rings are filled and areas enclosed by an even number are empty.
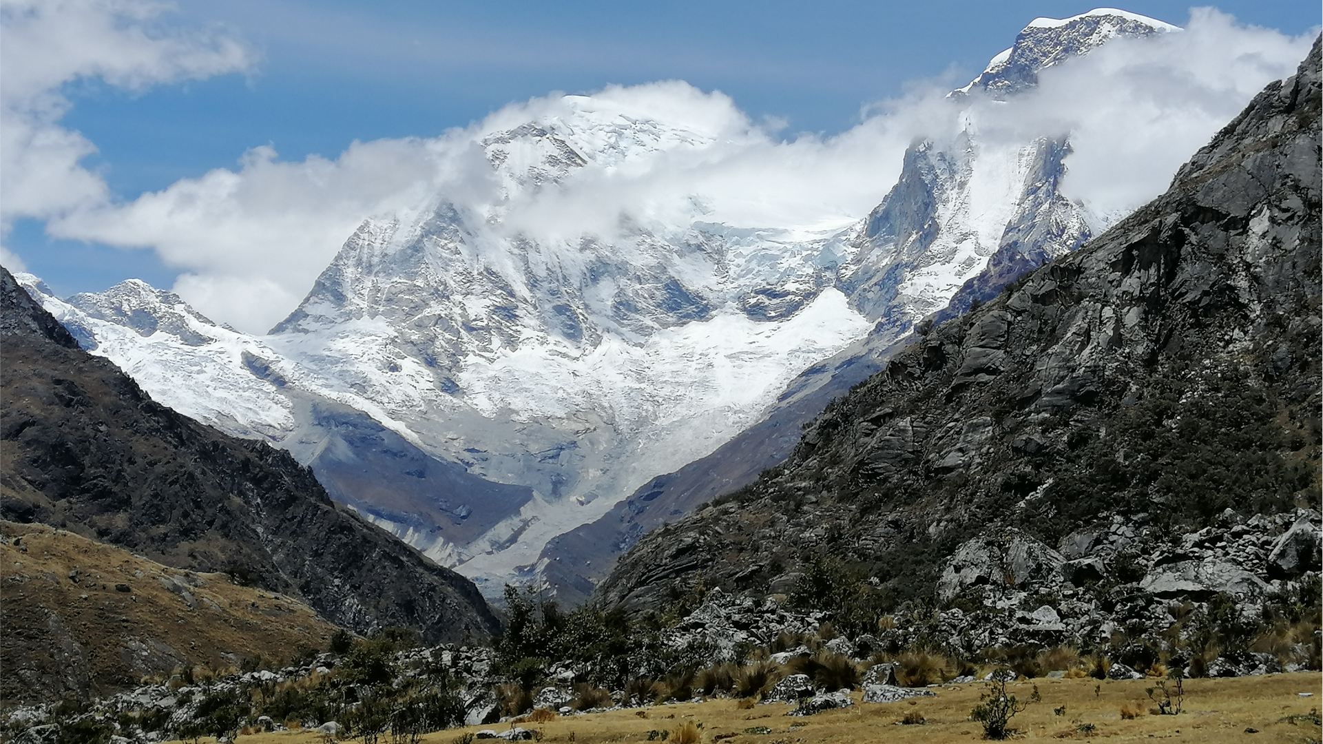
{"type": "Polygon", "coordinates": [[[337,507],[288,453],[164,408],[0,271],[0,516],[224,571],[361,631],[484,637],[474,585],[337,507]]]}

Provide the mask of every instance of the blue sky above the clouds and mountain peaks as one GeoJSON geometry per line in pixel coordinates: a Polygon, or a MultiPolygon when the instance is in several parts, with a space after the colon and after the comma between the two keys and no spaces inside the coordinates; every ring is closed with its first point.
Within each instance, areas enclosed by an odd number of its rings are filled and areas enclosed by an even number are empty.
{"type": "MultiPolygon", "coordinates": [[[[553,90],[679,78],[721,90],[786,135],[835,134],[863,106],[913,81],[963,83],[1036,16],[1093,8],[1061,1],[451,3],[423,0],[184,0],[163,23],[220,28],[257,52],[247,73],[127,93],[65,86],[61,124],[98,152],[83,163],[122,201],[234,167],[270,144],[280,160],[339,155],[353,140],[434,136],[512,101],[553,90]]],[[[1315,1],[1217,5],[1241,21],[1299,34],[1315,1]]],[[[1125,9],[1175,24],[1188,4],[1125,9]]],[[[53,241],[20,218],[7,240],[58,293],[128,277],[169,286],[177,270],[147,250],[53,241]]]]}

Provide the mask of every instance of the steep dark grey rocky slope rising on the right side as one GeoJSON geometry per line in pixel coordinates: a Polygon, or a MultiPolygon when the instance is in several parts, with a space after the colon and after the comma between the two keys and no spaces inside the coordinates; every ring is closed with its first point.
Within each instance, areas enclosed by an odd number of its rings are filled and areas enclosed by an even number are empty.
{"type": "Polygon", "coordinates": [[[639,541],[599,600],[766,592],[827,553],[894,602],[1003,527],[1053,544],[1318,507],[1320,116],[1323,37],[1164,196],[892,357],[786,465],[639,541]]]}

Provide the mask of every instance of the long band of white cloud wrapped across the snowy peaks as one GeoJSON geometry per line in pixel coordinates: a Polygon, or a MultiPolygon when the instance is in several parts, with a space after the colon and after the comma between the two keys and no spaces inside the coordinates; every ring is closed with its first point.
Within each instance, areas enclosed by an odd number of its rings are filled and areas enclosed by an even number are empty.
{"type": "Polygon", "coordinates": [[[504,226],[493,230],[541,238],[610,234],[622,217],[646,226],[695,218],[791,229],[844,225],[894,184],[901,154],[916,136],[941,139],[958,130],[960,106],[994,139],[1069,132],[1069,193],[1114,214],[1160,193],[1176,167],[1254,93],[1294,71],[1310,41],[1197,11],[1183,33],[1109,44],[1048,70],[1039,90],[1008,103],[975,97],[958,105],[945,89],[919,87],[871,109],[847,132],[790,142],[751,123],[728,97],[683,82],[610,87],[591,99],[550,95],[433,139],[355,143],[333,160],[283,163],[259,147],[238,169],[185,179],[128,204],[87,197],[86,208],[49,229],[151,246],[185,271],[175,290],[201,311],[261,332],[294,308],[368,216],[418,209],[445,195],[478,213],[500,210],[504,226]],[[583,134],[579,144],[597,148],[602,167],[499,204],[503,184],[480,150],[483,136],[533,119],[581,120],[586,110],[654,119],[667,131],[651,156],[624,164],[613,160],[609,136],[583,134]],[[689,135],[701,144],[676,144],[689,135]]]}

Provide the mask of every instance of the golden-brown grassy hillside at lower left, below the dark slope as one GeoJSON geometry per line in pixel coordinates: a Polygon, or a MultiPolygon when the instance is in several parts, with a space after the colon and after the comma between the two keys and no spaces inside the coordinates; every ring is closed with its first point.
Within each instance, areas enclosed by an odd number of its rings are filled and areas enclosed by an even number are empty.
{"type": "Polygon", "coordinates": [[[307,605],[42,524],[0,523],[0,700],[89,699],[185,666],[323,649],[307,605]]]}

